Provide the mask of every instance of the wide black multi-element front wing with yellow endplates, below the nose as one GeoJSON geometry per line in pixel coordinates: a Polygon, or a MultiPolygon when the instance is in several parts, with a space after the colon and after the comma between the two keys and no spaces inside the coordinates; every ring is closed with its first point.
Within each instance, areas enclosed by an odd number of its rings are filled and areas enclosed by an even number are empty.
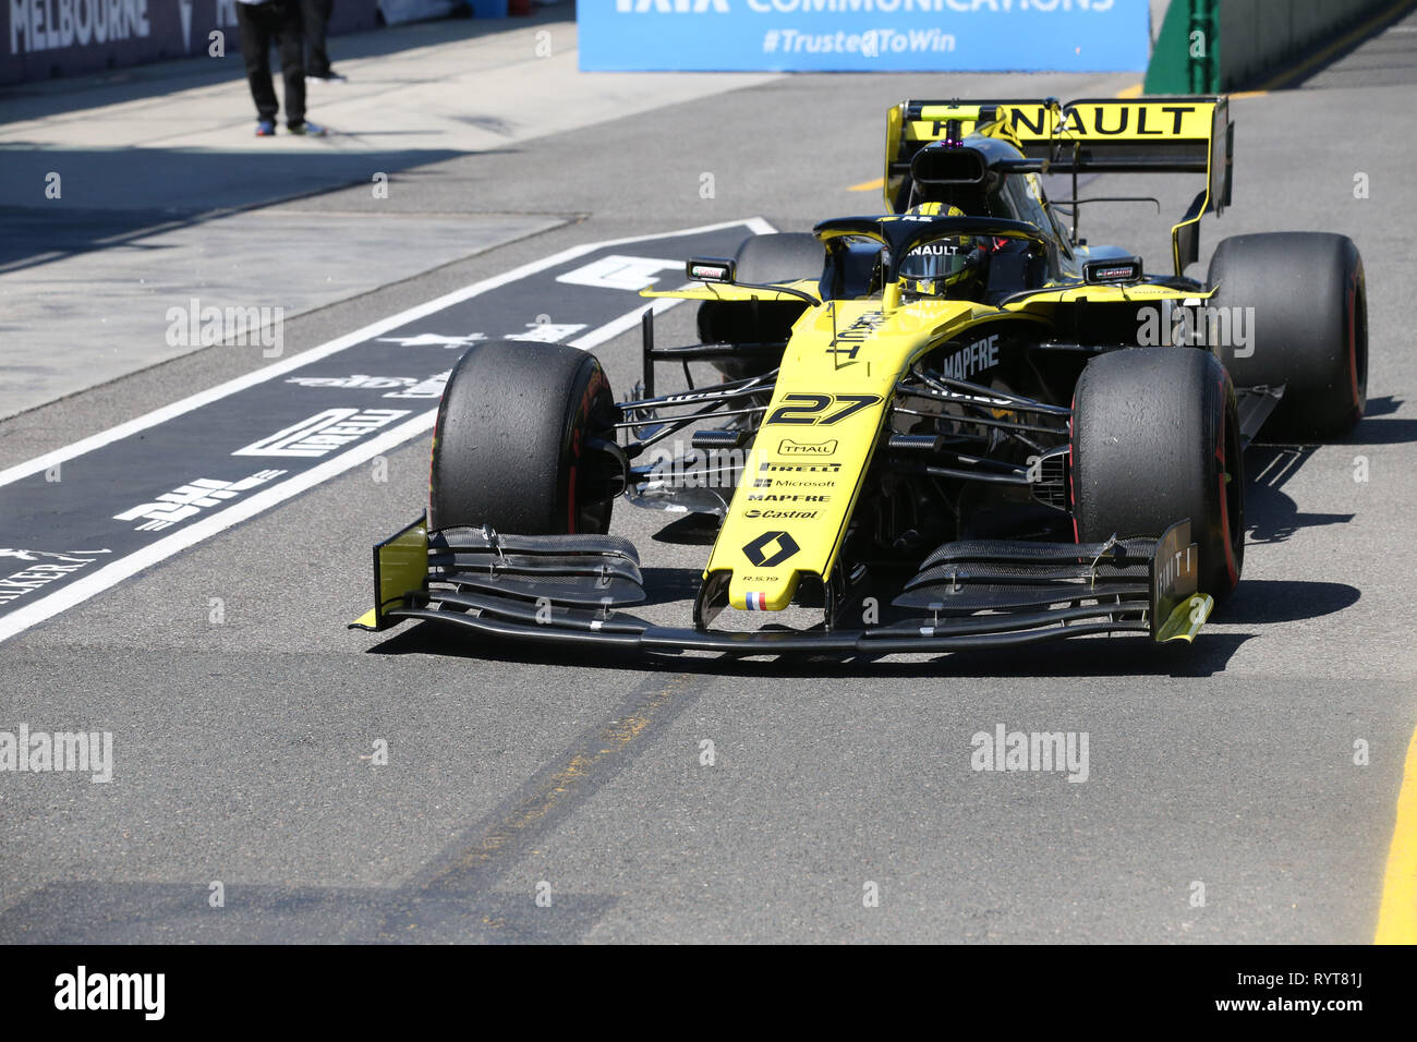
{"type": "Polygon", "coordinates": [[[428,620],[495,639],[660,654],[891,655],[1111,632],[1189,642],[1213,607],[1196,588],[1196,563],[1190,522],[1159,539],[1095,544],[945,543],[905,583],[886,624],[730,632],[629,614],[646,593],[628,540],[470,527],[429,536],[419,519],[374,547],[376,607],[351,625],[428,620]]]}

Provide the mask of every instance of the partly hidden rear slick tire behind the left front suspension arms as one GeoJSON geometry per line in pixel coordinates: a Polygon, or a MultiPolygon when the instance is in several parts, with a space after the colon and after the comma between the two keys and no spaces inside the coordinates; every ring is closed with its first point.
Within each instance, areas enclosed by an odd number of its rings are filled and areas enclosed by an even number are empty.
{"type": "MultiPolygon", "coordinates": [[[[734,258],[738,282],[792,282],[820,278],[826,250],[809,233],[771,233],[744,240],[734,258]]],[[[785,342],[805,308],[794,301],[704,301],[699,305],[699,339],[744,344],[785,342]]],[[[730,380],[741,380],[771,371],[777,360],[716,359],[713,366],[730,380]]]]}

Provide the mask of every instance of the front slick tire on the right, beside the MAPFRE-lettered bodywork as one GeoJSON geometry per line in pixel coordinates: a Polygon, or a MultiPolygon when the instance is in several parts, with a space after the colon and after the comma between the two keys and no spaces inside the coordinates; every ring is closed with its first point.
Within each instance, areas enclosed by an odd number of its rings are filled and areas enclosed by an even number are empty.
{"type": "Polygon", "coordinates": [[[1202,593],[1224,600],[1244,566],[1244,459],[1224,366],[1192,347],[1091,359],[1073,397],[1080,543],[1159,536],[1190,519],[1202,593]]]}

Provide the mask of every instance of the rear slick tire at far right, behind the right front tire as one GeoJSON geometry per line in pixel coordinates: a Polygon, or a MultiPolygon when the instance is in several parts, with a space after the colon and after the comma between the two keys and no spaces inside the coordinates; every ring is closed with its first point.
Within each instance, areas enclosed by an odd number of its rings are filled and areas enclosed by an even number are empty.
{"type": "Polygon", "coordinates": [[[1367,285],[1353,240],[1318,231],[1236,235],[1216,248],[1206,278],[1213,306],[1254,308],[1244,313],[1253,336],[1243,357],[1233,343],[1212,347],[1230,379],[1237,387],[1285,384],[1261,430],[1265,438],[1336,438],[1363,418],[1367,285]]]}

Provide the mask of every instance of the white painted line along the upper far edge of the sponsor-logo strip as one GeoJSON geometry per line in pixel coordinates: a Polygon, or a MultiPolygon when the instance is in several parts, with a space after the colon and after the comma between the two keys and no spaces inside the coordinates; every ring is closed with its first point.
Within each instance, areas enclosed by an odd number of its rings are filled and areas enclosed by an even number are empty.
{"type": "MultiPolygon", "coordinates": [[[[84,438],[82,441],[75,441],[71,445],[58,448],[52,452],[45,452],[43,456],[35,456],[23,464],[16,464],[14,466],[0,471],[0,485],[10,485],[11,482],[20,481],[21,478],[28,478],[31,474],[40,474],[41,471],[48,471],[55,464],[62,464],[67,459],[74,459],[85,452],[92,452],[96,448],[109,445],[115,441],[126,438],[137,431],[146,431],[149,427],[156,427],[157,424],[166,422],[174,417],[183,415],[184,413],[191,413],[194,408],[201,408],[213,401],[220,401],[221,398],[230,397],[237,391],[244,391],[247,387],[254,387],[255,384],[265,383],[266,380],[273,380],[278,376],[283,376],[293,369],[306,366],[312,362],[329,357],[330,354],[337,354],[347,347],[363,343],[364,340],[371,340],[380,333],[387,333],[391,329],[415,322],[417,319],[427,318],[435,312],[445,308],[451,308],[462,301],[469,301],[473,296],[486,293],[497,286],[504,286],[509,282],[516,282],[527,275],[536,275],[547,268],[554,268],[558,264],[565,264],[567,261],[574,261],[577,257],[584,257],[585,254],[594,252],[597,250],[604,250],[605,247],[618,247],[629,242],[645,242],[648,240],[656,238],[673,238],[677,235],[700,235],[710,231],[723,231],[724,228],[733,227],[747,227],[754,234],[764,234],[765,231],[772,231],[772,225],[768,224],[761,217],[751,217],[738,221],[723,221],[720,224],[706,224],[697,228],[682,228],[677,231],[659,233],[653,235],[632,235],[629,238],[612,238],[602,242],[584,242],[578,247],[571,247],[570,250],[563,250],[553,257],[546,257],[540,261],[531,261],[530,264],[523,264],[520,268],[513,268],[512,271],[503,272],[502,275],[493,275],[482,282],[475,282],[470,286],[463,286],[462,289],[455,289],[451,293],[439,296],[427,303],[421,303],[417,308],[410,308],[408,310],[400,312],[398,315],[391,315],[387,319],[380,319],[373,325],[357,329],[353,333],[341,336],[336,340],[322,343],[319,347],[312,347],[307,352],[300,352],[299,354],[292,354],[289,359],[276,362],[264,369],[254,370],[245,376],[238,376],[235,380],[228,380],[224,384],[217,384],[205,391],[198,391],[181,401],[174,401],[170,405],[163,405],[162,408],[146,413],[140,417],[135,417],[128,422],[111,427],[106,431],[101,431],[92,437],[84,438]]],[[[636,319],[638,320],[638,319],[636,319]]],[[[584,337],[582,337],[584,339],[584,337]]]]}

